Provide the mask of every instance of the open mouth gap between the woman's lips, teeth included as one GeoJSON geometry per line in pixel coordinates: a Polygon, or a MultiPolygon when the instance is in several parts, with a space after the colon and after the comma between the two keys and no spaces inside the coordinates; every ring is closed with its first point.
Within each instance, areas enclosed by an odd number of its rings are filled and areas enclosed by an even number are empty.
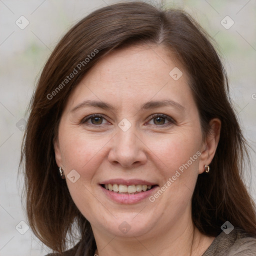
{"type": "Polygon", "coordinates": [[[118,194],[138,194],[143,193],[145,191],[153,189],[157,185],[151,184],[116,184],[116,183],[107,183],[107,184],[100,184],[104,189],[108,191],[112,191],[118,194]]]}

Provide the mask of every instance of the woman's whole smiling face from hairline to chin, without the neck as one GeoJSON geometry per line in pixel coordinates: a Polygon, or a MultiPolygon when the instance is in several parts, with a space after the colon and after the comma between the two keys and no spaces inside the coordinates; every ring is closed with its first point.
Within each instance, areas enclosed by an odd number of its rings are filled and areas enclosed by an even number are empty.
{"type": "Polygon", "coordinates": [[[90,69],[69,96],[54,148],[93,232],[116,236],[185,225],[209,164],[188,77],[162,46],[119,49],[90,69]],[[181,76],[170,72],[176,66],[181,76]]]}

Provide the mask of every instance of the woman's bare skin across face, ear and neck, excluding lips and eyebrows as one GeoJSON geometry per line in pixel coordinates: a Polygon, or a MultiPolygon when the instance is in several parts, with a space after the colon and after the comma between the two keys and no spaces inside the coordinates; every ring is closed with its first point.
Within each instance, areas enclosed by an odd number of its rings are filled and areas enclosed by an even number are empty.
{"type": "Polygon", "coordinates": [[[214,156],[220,121],[210,121],[211,132],[203,139],[185,69],[166,53],[156,45],[111,52],[75,87],[61,116],[56,163],[65,176],[72,169],[80,175],[76,182],[66,182],[91,224],[100,256],[201,255],[214,239],[193,225],[191,197],[198,174],[214,156]],[[169,75],[175,66],[183,73],[178,80],[169,75]],[[84,100],[103,101],[114,109],[81,106],[72,111],[84,100]],[[141,110],[150,100],[173,100],[182,107],[141,110]],[[82,122],[91,114],[103,119],[82,122]],[[152,114],[165,114],[174,122],[152,114]],[[127,131],[118,127],[123,118],[131,124],[127,131]],[[117,203],[98,185],[110,178],[137,178],[161,187],[196,152],[200,156],[154,202],[117,203]],[[130,226],[125,234],[118,228],[123,221],[130,226]]]}

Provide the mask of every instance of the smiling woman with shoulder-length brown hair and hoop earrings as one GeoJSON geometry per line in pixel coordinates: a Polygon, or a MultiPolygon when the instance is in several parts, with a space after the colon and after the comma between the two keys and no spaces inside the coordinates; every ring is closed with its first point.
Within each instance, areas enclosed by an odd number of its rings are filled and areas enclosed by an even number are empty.
{"type": "Polygon", "coordinates": [[[255,255],[246,155],[201,27],[113,4],[72,27],[41,73],[21,158],[28,220],[61,255],[255,255]]]}

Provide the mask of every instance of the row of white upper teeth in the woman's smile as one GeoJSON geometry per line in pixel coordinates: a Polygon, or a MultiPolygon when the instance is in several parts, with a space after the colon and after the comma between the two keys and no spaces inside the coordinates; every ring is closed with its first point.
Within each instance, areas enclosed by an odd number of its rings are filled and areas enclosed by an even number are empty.
{"type": "Polygon", "coordinates": [[[104,184],[105,189],[109,191],[119,192],[119,193],[136,193],[141,191],[146,191],[152,187],[152,185],[123,185],[123,184],[104,184]]]}

